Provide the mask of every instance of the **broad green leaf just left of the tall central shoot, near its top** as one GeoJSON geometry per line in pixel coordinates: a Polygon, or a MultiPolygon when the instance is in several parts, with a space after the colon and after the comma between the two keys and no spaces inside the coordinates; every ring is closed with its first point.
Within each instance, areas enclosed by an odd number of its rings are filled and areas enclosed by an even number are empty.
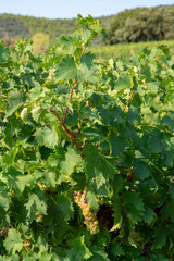
{"type": "Polygon", "coordinates": [[[75,65],[74,58],[72,55],[66,55],[61,60],[57,67],[55,80],[64,79],[65,82],[71,78],[77,77],[77,69],[75,65]]]}

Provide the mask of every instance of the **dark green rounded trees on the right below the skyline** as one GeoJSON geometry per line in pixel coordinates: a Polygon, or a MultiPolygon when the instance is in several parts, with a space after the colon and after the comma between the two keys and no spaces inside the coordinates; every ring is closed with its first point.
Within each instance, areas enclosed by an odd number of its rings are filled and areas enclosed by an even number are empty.
{"type": "Polygon", "coordinates": [[[174,5],[137,8],[119,13],[108,30],[109,45],[174,39],[174,5]]]}

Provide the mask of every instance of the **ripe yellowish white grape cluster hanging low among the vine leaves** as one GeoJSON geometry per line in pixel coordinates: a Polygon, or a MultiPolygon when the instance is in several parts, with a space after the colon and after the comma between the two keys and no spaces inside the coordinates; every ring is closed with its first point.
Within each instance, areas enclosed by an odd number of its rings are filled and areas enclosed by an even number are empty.
{"type": "Polygon", "coordinates": [[[97,220],[97,212],[89,208],[88,201],[86,199],[87,189],[84,191],[74,191],[74,201],[79,206],[84,215],[84,224],[87,229],[90,231],[90,234],[99,233],[99,224],[97,220]]]}

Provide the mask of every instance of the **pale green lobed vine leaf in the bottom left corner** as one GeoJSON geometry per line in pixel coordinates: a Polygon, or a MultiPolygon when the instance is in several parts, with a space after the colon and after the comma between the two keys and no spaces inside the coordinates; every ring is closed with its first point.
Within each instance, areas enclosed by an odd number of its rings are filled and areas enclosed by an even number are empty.
{"type": "Polygon", "coordinates": [[[21,251],[23,248],[23,239],[21,238],[20,232],[14,228],[9,229],[8,237],[3,245],[10,254],[15,254],[16,251],[21,251]]]}

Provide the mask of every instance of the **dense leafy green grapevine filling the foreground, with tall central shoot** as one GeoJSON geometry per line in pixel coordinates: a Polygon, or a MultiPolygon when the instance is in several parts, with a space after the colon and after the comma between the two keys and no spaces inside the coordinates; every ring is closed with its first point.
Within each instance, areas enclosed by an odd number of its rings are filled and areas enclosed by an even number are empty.
{"type": "Polygon", "coordinates": [[[0,260],[174,260],[174,60],[0,42],[0,260]],[[73,192],[72,192],[73,191],[73,192]]]}

